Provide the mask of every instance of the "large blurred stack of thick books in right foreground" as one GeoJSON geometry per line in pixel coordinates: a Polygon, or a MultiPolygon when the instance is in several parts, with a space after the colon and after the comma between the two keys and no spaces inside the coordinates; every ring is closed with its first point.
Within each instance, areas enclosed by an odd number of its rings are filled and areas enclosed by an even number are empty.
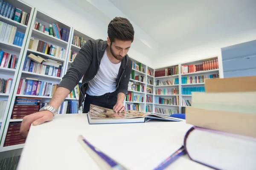
{"type": "Polygon", "coordinates": [[[186,123],[195,127],[184,140],[190,159],[214,169],[254,169],[255,84],[256,77],[207,79],[206,93],[192,94],[186,123]]]}

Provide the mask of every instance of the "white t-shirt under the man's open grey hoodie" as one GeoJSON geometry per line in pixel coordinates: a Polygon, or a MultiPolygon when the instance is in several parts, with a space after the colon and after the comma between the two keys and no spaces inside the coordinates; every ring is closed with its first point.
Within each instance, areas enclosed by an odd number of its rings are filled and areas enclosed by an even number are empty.
{"type": "Polygon", "coordinates": [[[105,50],[99,65],[99,71],[96,76],[88,82],[86,93],[90,96],[101,96],[106,93],[116,91],[116,79],[121,62],[113,64],[107,56],[105,50]]]}

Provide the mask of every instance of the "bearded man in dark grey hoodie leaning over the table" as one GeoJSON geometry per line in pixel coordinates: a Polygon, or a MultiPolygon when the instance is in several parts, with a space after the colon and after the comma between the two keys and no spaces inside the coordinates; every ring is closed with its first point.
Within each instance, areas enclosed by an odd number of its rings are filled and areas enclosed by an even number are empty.
{"type": "Polygon", "coordinates": [[[40,125],[51,121],[82,76],[79,107],[84,102],[83,113],[88,113],[90,104],[125,112],[123,101],[132,70],[132,61],[127,53],[133,40],[134,28],[129,20],[122,17],[111,20],[108,40],[88,40],[84,44],[49,104],[39,112],[25,116],[20,133],[27,136],[31,124],[40,125]]]}

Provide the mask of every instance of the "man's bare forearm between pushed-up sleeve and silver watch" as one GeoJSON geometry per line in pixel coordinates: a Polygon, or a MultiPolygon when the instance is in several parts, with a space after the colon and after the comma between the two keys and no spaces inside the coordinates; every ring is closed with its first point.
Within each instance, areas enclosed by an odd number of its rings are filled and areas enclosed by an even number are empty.
{"type": "Polygon", "coordinates": [[[61,103],[66,99],[67,95],[70,94],[70,91],[67,88],[58,87],[55,91],[55,93],[52,96],[51,101],[49,104],[55,108],[58,109],[61,105],[61,103]]]}

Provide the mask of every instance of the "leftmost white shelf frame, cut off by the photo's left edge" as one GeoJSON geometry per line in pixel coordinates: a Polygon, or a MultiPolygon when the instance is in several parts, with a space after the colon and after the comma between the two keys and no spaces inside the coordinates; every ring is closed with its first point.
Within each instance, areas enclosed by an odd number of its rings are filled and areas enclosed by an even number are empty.
{"type": "MultiPolygon", "coordinates": [[[[21,23],[18,23],[16,21],[10,20],[6,17],[0,16],[0,21],[3,21],[4,23],[7,23],[9,25],[15,26],[17,27],[17,32],[21,32],[23,34],[25,34],[24,36],[24,40],[23,40],[23,44],[22,46],[18,46],[18,45],[13,45],[7,42],[0,42],[0,48],[2,49],[2,51],[7,52],[9,54],[14,54],[16,55],[16,60],[17,60],[17,66],[16,69],[12,69],[12,68],[0,68],[0,78],[3,79],[9,79],[12,78],[12,85],[10,88],[10,93],[7,94],[1,94],[0,95],[0,100],[7,100],[7,105],[6,105],[6,109],[4,111],[4,116],[3,116],[3,120],[0,123],[1,124],[1,129],[0,129],[0,152],[2,151],[6,151],[6,150],[12,150],[12,149],[17,149],[17,145],[13,145],[10,147],[3,147],[4,141],[5,141],[5,137],[6,137],[6,133],[7,133],[7,129],[9,126],[9,122],[10,122],[10,112],[12,113],[12,103],[14,102],[14,91],[16,88],[16,82],[18,82],[18,75],[19,75],[19,68],[23,59],[23,53],[25,51],[26,48],[26,37],[28,37],[29,34],[29,26],[30,23],[32,21],[32,16],[33,13],[35,11],[35,8],[33,8],[32,6],[29,6],[26,3],[23,3],[19,0],[5,0],[6,2],[8,2],[10,5],[15,6],[16,8],[20,8],[22,11],[25,11],[26,13],[29,13],[29,20],[28,20],[28,26],[23,25],[21,23]]],[[[14,122],[17,122],[17,120],[15,120],[14,122]]]]}

